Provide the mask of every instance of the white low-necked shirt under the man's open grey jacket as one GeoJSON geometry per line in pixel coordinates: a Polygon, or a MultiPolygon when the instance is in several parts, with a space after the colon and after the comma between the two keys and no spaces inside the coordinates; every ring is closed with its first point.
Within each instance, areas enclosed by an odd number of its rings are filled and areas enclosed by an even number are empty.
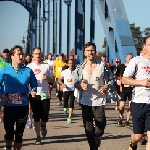
{"type": "Polygon", "coordinates": [[[83,69],[83,79],[88,84],[88,89],[83,90],[81,104],[87,106],[102,106],[106,103],[106,95],[101,95],[99,85],[104,85],[104,65],[98,64],[95,72],[90,75],[83,69]]]}

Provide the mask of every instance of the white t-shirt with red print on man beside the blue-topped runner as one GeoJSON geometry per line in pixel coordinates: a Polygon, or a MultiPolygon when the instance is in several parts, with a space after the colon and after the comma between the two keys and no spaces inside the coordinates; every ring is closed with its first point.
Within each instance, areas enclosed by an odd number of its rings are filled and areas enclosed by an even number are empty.
{"type": "Polygon", "coordinates": [[[37,95],[41,93],[45,93],[49,91],[48,82],[47,80],[42,80],[43,74],[49,77],[53,77],[52,69],[49,67],[48,64],[41,63],[39,65],[35,64],[34,62],[27,65],[27,67],[31,68],[35,74],[37,79],[38,87],[37,87],[37,95]]]}

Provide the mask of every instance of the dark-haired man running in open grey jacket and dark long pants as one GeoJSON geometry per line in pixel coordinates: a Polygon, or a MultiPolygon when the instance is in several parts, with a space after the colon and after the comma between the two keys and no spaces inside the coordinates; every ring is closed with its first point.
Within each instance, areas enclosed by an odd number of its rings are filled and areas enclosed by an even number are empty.
{"type": "Polygon", "coordinates": [[[106,126],[105,91],[111,88],[116,100],[119,99],[114,85],[114,77],[108,66],[96,60],[96,45],[88,42],[84,46],[86,61],[74,71],[74,86],[79,89],[79,102],[90,150],[98,150],[106,126]],[[95,128],[93,127],[95,118],[95,128]]]}

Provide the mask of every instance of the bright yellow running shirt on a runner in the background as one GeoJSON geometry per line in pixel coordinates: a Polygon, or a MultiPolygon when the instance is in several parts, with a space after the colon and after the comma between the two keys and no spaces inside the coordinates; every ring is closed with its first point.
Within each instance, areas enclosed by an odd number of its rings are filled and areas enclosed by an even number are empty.
{"type": "Polygon", "coordinates": [[[54,66],[55,66],[55,77],[56,78],[59,78],[60,77],[60,74],[62,72],[62,68],[63,66],[65,66],[66,63],[64,63],[63,61],[60,61],[60,60],[56,60],[54,62],[54,66]]]}

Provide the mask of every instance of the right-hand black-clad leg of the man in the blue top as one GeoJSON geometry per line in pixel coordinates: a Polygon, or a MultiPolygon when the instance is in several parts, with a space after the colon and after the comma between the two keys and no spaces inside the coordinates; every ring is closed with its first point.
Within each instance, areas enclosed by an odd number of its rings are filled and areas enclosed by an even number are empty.
{"type": "Polygon", "coordinates": [[[15,142],[14,142],[14,150],[21,150],[22,148],[22,137],[23,137],[23,132],[24,128],[27,123],[27,118],[28,118],[28,109],[29,106],[22,106],[16,108],[18,109],[18,118],[16,121],[16,132],[15,132],[15,142]]]}

